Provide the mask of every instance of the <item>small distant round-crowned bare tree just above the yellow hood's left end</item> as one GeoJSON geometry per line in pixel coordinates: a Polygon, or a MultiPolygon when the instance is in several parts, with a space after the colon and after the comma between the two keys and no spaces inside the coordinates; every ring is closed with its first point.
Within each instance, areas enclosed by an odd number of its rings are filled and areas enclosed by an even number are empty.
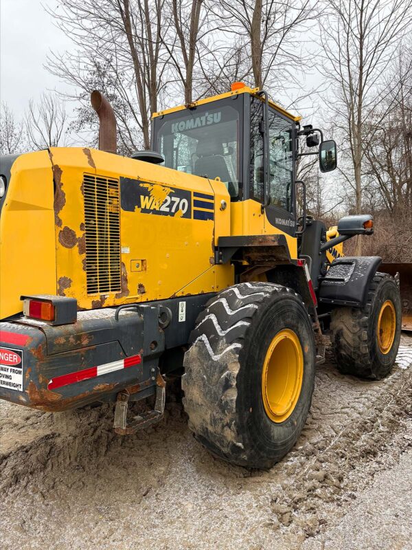
{"type": "Polygon", "coordinates": [[[43,94],[38,103],[30,100],[25,113],[25,130],[31,149],[66,144],[67,113],[56,94],[43,94]]]}

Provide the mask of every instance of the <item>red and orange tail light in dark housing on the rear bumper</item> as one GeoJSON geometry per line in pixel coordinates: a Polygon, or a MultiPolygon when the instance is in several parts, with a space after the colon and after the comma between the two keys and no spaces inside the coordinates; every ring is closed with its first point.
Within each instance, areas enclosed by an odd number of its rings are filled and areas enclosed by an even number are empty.
{"type": "Polygon", "coordinates": [[[47,322],[49,325],[69,325],[77,320],[76,298],[66,296],[21,296],[23,314],[30,319],[47,322]]]}

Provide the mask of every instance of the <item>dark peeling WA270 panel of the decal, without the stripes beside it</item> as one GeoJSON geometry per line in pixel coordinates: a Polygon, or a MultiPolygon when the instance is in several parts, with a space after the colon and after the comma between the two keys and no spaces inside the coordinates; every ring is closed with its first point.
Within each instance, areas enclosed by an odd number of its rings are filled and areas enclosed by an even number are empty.
{"type": "Polygon", "coordinates": [[[121,177],[120,203],[129,212],[192,218],[192,192],[177,187],[121,177]]]}

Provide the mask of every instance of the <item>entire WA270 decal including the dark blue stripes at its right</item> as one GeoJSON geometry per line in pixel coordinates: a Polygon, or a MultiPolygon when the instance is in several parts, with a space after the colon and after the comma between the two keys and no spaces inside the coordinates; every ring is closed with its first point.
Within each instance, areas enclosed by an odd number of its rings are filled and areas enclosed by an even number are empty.
{"type": "Polygon", "coordinates": [[[193,205],[192,198],[192,192],[186,189],[120,178],[120,204],[128,212],[213,220],[214,196],[195,192],[193,205]]]}

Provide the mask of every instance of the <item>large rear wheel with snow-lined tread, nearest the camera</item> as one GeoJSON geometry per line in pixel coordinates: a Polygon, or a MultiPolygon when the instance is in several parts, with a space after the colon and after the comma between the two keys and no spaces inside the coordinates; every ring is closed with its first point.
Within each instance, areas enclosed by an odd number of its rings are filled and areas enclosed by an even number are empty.
{"type": "Polygon", "coordinates": [[[312,400],[315,345],[301,298],[270,283],[229,287],[209,300],[190,340],[182,388],[194,436],[231,463],[273,466],[312,400]]]}

